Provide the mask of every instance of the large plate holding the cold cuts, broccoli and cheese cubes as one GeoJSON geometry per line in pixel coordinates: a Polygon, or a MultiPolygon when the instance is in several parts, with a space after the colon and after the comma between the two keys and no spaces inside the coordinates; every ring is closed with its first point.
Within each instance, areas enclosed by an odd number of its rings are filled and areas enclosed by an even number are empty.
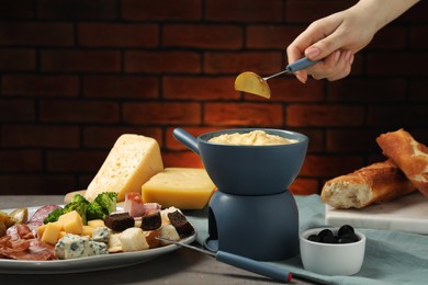
{"type": "MultiPolygon", "coordinates": [[[[29,207],[29,217],[31,217],[37,208],[38,207],[29,207]]],[[[5,213],[10,213],[13,209],[2,210],[5,213]]],[[[196,232],[188,238],[182,239],[181,242],[191,243],[195,240],[195,238],[196,232]]],[[[136,252],[121,252],[89,258],[54,261],[22,261],[0,259],[0,273],[61,274],[119,269],[149,261],[157,256],[174,251],[179,248],[179,246],[170,244],[166,247],[136,252]]]]}

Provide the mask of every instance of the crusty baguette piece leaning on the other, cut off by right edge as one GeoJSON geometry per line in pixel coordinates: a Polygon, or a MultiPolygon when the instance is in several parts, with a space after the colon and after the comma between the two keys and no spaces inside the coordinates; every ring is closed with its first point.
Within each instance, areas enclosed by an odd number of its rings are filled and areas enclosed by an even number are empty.
{"type": "Polygon", "coordinates": [[[376,138],[383,153],[394,161],[407,179],[428,198],[428,148],[403,128],[376,138]]]}

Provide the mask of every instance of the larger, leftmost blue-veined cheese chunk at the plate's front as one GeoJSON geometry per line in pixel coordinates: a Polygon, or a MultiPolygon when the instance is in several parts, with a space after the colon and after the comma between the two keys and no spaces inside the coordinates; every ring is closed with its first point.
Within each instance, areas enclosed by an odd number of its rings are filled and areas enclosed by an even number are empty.
{"type": "Polygon", "coordinates": [[[55,254],[60,260],[85,258],[91,253],[92,249],[87,237],[67,233],[55,244],[55,254]]]}

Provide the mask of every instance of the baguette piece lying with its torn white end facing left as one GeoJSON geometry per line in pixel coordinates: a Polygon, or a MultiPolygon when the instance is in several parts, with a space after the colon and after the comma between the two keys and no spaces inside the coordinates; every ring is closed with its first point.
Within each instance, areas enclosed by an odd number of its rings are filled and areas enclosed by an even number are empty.
{"type": "Polygon", "coordinates": [[[386,160],[327,181],[320,197],[335,208],[362,208],[413,191],[415,187],[410,181],[391,160],[386,160]]]}

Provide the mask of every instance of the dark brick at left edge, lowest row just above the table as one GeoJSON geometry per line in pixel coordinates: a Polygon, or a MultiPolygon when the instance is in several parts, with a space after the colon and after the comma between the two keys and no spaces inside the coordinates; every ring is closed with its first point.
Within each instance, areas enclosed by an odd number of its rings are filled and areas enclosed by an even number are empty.
{"type": "Polygon", "coordinates": [[[2,195],[64,195],[75,185],[72,174],[0,174],[2,195]]]}

